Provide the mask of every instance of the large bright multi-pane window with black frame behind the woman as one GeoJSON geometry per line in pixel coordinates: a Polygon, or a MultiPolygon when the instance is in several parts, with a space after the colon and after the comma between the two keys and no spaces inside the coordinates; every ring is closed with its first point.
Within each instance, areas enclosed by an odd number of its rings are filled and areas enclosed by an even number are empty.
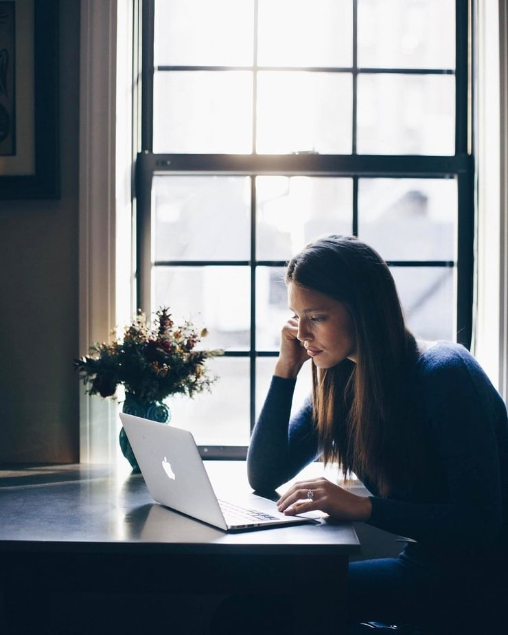
{"type": "Polygon", "coordinates": [[[138,304],[225,350],[210,395],[172,401],[204,456],[245,456],[288,317],[284,265],[320,234],[370,243],[413,331],[470,346],[470,14],[454,0],[143,1],[138,304]]]}

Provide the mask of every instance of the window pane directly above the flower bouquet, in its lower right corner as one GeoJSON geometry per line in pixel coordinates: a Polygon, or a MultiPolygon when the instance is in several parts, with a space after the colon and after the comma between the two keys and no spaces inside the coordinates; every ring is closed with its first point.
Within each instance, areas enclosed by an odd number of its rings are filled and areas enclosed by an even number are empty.
{"type": "Polygon", "coordinates": [[[154,267],[152,306],[170,307],[175,320],[206,326],[205,348],[250,345],[249,267],[154,267]]]}

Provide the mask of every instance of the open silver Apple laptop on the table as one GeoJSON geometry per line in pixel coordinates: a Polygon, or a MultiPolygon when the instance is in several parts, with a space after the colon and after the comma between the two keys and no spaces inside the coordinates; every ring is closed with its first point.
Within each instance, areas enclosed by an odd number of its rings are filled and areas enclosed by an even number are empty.
{"type": "Polygon", "coordinates": [[[191,432],[124,412],[119,416],[146,487],[161,505],[222,531],[319,523],[315,516],[285,516],[273,500],[255,494],[242,502],[218,499],[191,432]]]}

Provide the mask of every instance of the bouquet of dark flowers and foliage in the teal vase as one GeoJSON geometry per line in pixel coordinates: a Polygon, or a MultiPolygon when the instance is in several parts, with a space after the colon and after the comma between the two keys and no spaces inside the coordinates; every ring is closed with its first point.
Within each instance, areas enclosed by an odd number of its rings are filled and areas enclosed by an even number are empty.
{"type": "Polygon", "coordinates": [[[176,326],[168,308],[155,313],[150,328],[146,315],[137,316],[124,329],[124,337],[110,344],[93,344],[89,355],[74,360],[89,394],[113,397],[117,387],[141,401],[162,401],[170,394],[194,394],[209,390],[217,377],[210,377],[205,361],[222,350],[195,350],[201,337],[191,322],[176,326]]]}

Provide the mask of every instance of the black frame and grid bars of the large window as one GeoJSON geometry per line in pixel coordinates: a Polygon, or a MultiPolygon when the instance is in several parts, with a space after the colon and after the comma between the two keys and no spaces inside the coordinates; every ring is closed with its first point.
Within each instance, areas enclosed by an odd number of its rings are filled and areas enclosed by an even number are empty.
{"type": "MultiPolygon", "coordinates": [[[[351,155],[288,154],[251,155],[231,154],[155,154],[152,151],[152,111],[154,79],[154,0],[141,0],[141,148],[135,165],[136,200],[136,294],[137,307],[146,313],[150,307],[151,268],[155,266],[249,266],[251,267],[251,346],[249,350],[228,350],[230,357],[249,357],[250,426],[255,423],[255,361],[258,357],[275,357],[276,351],[257,350],[255,342],[255,271],[257,267],[284,267],[285,261],[256,260],[256,201],[255,187],[251,197],[251,257],[249,260],[181,261],[165,260],[152,263],[151,249],[151,189],[154,175],[286,175],[351,177],[353,179],[353,233],[358,232],[358,180],[365,177],[457,179],[457,263],[448,260],[393,260],[391,267],[454,267],[457,266],[456,339],[470,348],[473,328],[474,278],[474,216],[475,161],[474,161],[474,0],[456,0],[456,65],[455,69],[367,69],[356,63],[357,0],[353,0],[354,59],[353,67],[353,148],[351,155]],[[356,153],[356,80],[359,74],[454,74],[455,76],[455,153],[450,156],[429,155],[358,155],[356,153]]],[[[196,68],[196,67],[193,67],[196,68]]],[[[203,67],[219,69],[218,67],[203,67]]],[[[162,70],[185,67],[161,67],[162,70]]],[[[226,69],[221,67],[220,69],[226,69]]],[[[295,69],[298,70],[298,69],[295,69]]],[[[312,69],[311,69],[312,70],[312,69]]],[[[319,69],[314,69],[319,70],[319,69]]],[[[330,71],[329,68],[326,69],[330,71]]],[[[333,70],[333,69],[332,69],[333,70]]],[[[344,71],[345,69],[340,69],[344,71]]],[[[253,133],[254,134],[254,133],[253,133]]],[[[255,148],[255,145],[253,146],[255,148]]],[[[209,459],[244,459],[244,446],[200,447],[209,459]]]]}

